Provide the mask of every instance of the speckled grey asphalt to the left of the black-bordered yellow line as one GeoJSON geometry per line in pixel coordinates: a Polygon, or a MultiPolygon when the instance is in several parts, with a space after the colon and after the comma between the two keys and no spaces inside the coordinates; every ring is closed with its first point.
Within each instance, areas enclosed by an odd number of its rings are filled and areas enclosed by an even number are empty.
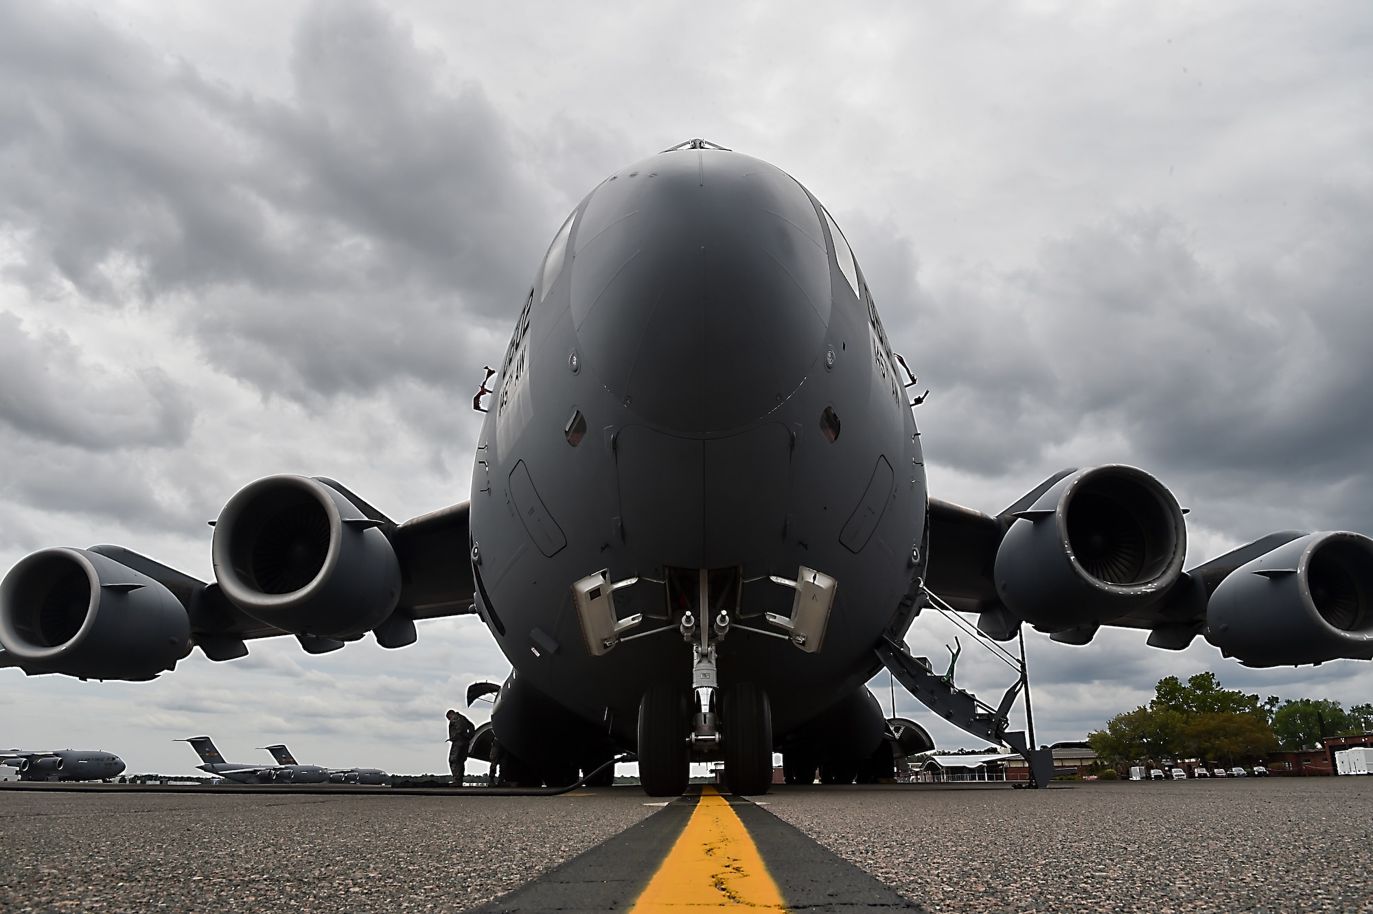
{"type": "Polygon", "coordinates": [[[656,812],[552,797],[0,790],[0,911],[463,911],[656,812]]]}

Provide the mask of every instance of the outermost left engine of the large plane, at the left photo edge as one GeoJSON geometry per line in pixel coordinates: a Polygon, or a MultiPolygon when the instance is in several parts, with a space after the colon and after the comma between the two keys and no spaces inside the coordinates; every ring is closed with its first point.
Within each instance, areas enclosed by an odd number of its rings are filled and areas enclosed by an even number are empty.
{"type": "Polygon", "coordinates": [[[33,671],[151,679],[191,652],[191,623],[152,578],[96,552],[43,549],[0,583],[0,644],[33,671]]]}

